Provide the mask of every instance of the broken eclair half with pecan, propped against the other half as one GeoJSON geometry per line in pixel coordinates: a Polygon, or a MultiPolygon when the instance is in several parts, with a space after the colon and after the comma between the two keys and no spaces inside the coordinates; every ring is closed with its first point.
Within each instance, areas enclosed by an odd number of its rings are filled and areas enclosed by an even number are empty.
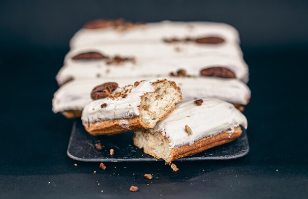
{"type": "Polygon", "coordinates": [[[153,128],[182,101],[175,82],[154,79],[119,87],[105,83],[93,88],[94,101],[85,106],[82,122],[91,135],[113,135],[153,128]]]}

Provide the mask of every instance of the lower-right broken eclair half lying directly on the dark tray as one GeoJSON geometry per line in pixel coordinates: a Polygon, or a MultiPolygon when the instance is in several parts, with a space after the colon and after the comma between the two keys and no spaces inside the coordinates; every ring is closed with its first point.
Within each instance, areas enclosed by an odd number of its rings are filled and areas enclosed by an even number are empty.
{"type": "Polygon", "coordinates": [[[153,129],[135,130],[134,144],[167,163],[231,142],[247,128],[246,117],[232,104],[199,99],[177,105],[153,129]]]}

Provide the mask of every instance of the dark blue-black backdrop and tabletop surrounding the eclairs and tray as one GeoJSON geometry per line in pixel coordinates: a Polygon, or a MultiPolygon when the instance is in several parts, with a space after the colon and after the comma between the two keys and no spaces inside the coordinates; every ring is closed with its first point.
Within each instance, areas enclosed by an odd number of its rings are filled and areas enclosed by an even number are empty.
{"type": "Polygon", "coordinates": [[[0,198],[305,198],[307,62],[304,0],[1,1],[0,198]],[[162,162],[74,167],[66,156],[72,120],[51,112],[54,78],[75,31],[95,18],[119,17],[238,28],[252,91],[246,157],[179,162],[178,172],[162,162]],[[140,191],[128,192],[132,184],[140,191]]]}

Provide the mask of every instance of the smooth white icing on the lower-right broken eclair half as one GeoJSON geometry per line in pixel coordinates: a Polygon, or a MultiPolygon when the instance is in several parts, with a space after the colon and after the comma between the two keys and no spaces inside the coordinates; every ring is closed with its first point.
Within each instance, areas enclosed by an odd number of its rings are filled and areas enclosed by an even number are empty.
{"type": "Polygon", "coordinates": [[[149,131],[160,132],[170,141],[170,148],[193,144],[194,142],[221,132],[234,132],[238,126],[247,128],[247,119],[232,104],[203,98],[201,106],[192,101],[182,102],[162,121],[157,122],[149,131]],[[189,117],[187,117],[189,116],[189,117]],[[192,135],[185,132],[185,125],[192,130],[192,135]]]}

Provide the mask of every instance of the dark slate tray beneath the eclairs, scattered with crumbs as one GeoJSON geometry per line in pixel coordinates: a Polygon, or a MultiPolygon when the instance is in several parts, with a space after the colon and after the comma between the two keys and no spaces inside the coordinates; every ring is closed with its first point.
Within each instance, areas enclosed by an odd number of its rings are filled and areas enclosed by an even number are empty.
{"type": "MultiPolygon", "coordinates": [[[[245,156],[249,152],[249,145],[246,130],[244,128],[242,130],[242,136],[233,142],[179,160],[228,160],[245,156]]],[[[137,148],[133,144],[132,136],[132,132],[114,136],[91,136],[84,129],[81,121],[75,121],[67,155],[74,160],[86,162],[161,161],[137,148]],[[98,142],[105,146],[102,150],[95,148],[94,144],[98,142]],[[111,148],[115,151],[113,156],[109,154],[111,148]]]]}

